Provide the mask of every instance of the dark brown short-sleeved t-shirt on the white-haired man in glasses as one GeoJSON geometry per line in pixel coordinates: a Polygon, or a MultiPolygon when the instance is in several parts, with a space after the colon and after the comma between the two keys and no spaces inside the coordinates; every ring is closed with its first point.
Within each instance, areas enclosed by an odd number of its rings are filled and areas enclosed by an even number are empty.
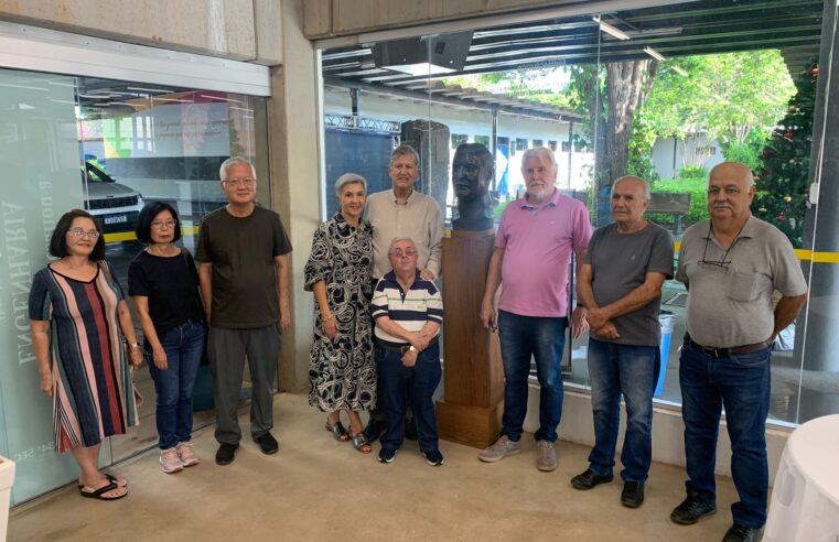
{"type": "Polygon", "coordinates": [[[280,216],[262,207],[204,217],[195,259],[213,264],[213,327],[265,327],[279,321],[275,257],[291,252],[280,216]]]}

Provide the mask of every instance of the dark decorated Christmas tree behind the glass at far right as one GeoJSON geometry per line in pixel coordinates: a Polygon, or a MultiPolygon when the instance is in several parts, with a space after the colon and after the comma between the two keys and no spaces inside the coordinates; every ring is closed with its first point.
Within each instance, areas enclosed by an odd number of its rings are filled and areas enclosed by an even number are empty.
{"type": "Polygon", "coordinates": [[[789,100],[786,117],[772,132],[755,175],[756,195],[752,213],[777,226],[793,243],[804,242],[813,115],[816,108],[818,64],[798,74],[797,94],[789,100]]]}

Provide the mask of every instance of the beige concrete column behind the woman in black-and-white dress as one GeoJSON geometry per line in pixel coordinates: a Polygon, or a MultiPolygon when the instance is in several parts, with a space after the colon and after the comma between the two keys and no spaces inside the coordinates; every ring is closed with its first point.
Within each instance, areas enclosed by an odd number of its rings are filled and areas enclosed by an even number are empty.
{"type": "MultiPolygon", "coordinates": [[[[303,1],[286,0],[281,9],[282,50],[286,64],[271,68],[268,100],[271,156],[271,199],[280,213],[291,253],[292,326],[282,336],[280,387],[300,391],[308,386],[314,302],[303,291],[303,268],[312,234],[321,223],[315,51],[303,36],[303,1]]],[[[329,195],[327,195],[329,196],[329,195]]]]}

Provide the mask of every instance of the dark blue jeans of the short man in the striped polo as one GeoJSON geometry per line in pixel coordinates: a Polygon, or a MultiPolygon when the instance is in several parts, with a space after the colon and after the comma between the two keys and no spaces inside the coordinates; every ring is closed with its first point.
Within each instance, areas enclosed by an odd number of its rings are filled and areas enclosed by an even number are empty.
{"type": "Polygon", "coordinates": [[[434,343],[417,356],[413,367],[402,365],[402,355],[376,345],[376,372],[380,384],[379,406],[385,412],[387,432],[381,447],[399,449],[405,441],[405,411],[410,398],[417,435],[422,452],[438,449],[434,390],[440,384],[440,344],[434,343]]]}

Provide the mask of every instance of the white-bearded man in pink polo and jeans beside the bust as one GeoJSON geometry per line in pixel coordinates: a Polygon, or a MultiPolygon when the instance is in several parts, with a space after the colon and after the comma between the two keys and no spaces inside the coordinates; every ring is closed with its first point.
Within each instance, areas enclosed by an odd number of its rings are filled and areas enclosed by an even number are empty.
{"type": "MultiPolygon", "coordinates": [[[[481,304],[481,321],[495,329],[495,292],[504,283],[497,313],[506,379],[503,429],[478,458],[493,463],[521,451],[533,357],[541,388],[539,431],[534,435],[536,467],[550,471],[557,468],[553,443],[562,414],[560,362],[568,327],[568,268],[571,251],[577,253],[578,265],[582,261],[592,229],[585,206],[553,186],[557,162],[550,149],[525,151],[521,174],[527,194],[504,210],[481,304]]],[[[574,338],[588,326],[584,311],[577,307],[571,317],[574,338]]]]}

